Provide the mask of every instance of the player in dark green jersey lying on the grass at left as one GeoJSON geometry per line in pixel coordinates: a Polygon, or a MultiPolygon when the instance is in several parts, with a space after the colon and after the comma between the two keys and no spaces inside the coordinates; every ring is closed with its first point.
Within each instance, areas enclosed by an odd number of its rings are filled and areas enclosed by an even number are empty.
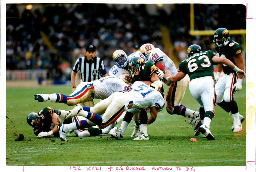
{"type": "MultiPolygon", "coordinates": [[[[44,107],[38,113],[32,112],[27,116],[27,122],[33,127],[34,134],[37,137],[60,137],[57,126],[59,125],[59,116],[61,113],[69,113],[64,110],[56,110],[50,106],[44,107]]],[[[64,124],[83,120],[83,116],[74,116],[73,118],[65,119],[64,124]]],[[[78,137],[97,136],[102,134],[99,128],[86,128],[74,130],[78,137]]]]}

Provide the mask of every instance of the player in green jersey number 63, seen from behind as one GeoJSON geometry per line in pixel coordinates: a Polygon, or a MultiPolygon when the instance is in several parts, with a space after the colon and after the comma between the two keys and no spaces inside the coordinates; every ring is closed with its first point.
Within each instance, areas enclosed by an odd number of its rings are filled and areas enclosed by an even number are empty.
{"type": "Polygon", "coordinates": [[[210,123],[215,115],[216,93],[214,86],[213,65],[225,64],[241,76],[246,76],[243,70],[239,69],[230,60],[218,57],[214,51],[201,51],[201,47],[193,44],[188,47],[187,59],[180,62],[178,73],[171,76],[165,71],[164,77],[170,82],[177,82],[188,74],[190,83],[189,91],[193,98],[199,103],[201,119],[199,131],[208,140],[215,140],[211,131],[210,123]]]}

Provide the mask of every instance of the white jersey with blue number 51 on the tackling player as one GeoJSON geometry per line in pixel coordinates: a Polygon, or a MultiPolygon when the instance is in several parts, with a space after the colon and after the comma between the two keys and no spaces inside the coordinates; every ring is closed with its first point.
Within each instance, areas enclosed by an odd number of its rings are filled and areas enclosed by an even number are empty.
{"type": "Polygon", "coordinates": [[[147,109],[155,106],[158,111],[163,110],[165,106],[165,100],[162,94],[147,84],[136,81],[131,86],[131,91],[124,92],[124,94],[132,97],[131,102],[127,102],[125,105],[125,111],[128,109],[147,109]]]}

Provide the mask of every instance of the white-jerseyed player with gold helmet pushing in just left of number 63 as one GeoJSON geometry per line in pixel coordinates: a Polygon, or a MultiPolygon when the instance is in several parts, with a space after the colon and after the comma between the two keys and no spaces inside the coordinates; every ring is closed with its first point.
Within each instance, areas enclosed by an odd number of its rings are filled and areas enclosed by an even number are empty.
{"type": "Polygon", "coordinates": [[[199,135],[198,128],[201,126],[200,114],[197,111],[190,110],[184,105],[180,104],[181,100],[184,97],[186,87],[188,85],[187,79],[183,78],[178,82],[170,83],[164,78],[163,71],[169,69],[170,74],[175,75],[178,73],[177,68],[175,67],[173,61],[159,48],[155,48],[151,43],[143,44],[140,47],[140,52],[142,52],[148,61],[151,61],[156,67],[160,70],[158,77],[169,86],[166,95],[166,111],[169,114],[177,114],[184,116],[189,120],[188,123],[192,124],[193,129],[195,130],[195,136],[199,135]]]}

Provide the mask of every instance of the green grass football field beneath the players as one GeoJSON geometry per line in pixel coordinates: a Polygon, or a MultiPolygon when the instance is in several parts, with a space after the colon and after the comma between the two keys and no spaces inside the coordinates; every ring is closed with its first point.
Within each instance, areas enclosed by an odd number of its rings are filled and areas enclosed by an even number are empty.
{"type": "MultiPolygon", "coordinates": [[[[194,137],[191,125],[184,117],[170,115],[165,109],[148,126],[148,141],[134,141],[130,137],[133,121],[123,140],[109,136],[78,138],[74,133],[67,136],[68,142],[59,138],[37,138],[27,124],[28,113],[37,113],[45,106],[65,110],[74,106],[39,103],[34,100],[34,94],[69,95],[70,91],[70,86],[6,89],[6,166],[245,166],[246,122],[242,123],[242,132],[232,132],[232,117],[218,105],[211,122],[214,141],[208,141],[200,134],[196,137],[198,142],[191,142],[190,138],[194,137]],[[24,135],[24,140],[16,141],[20,134],[24,135]]],[[[245,89],[236,93],[235,100],[239,113],[245,116],[245,89]]],[[[199,110],[188,88],[182,104],[199,110]]]]}

